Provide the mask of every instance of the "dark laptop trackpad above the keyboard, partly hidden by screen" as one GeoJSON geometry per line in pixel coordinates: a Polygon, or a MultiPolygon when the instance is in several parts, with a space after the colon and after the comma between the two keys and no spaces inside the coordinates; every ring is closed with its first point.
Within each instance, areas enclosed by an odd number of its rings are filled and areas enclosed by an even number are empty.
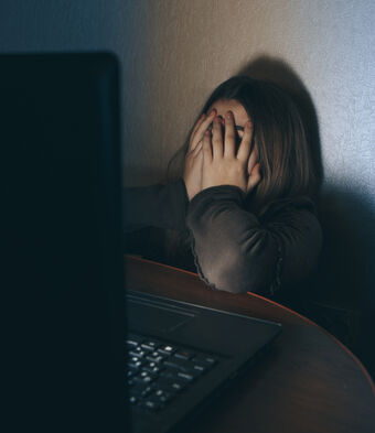
{"type": "Polygon", "coordinates": [[[128,299],[128,324],[133,331],[170,333],[193,317],[190,312],[128,299]]]}

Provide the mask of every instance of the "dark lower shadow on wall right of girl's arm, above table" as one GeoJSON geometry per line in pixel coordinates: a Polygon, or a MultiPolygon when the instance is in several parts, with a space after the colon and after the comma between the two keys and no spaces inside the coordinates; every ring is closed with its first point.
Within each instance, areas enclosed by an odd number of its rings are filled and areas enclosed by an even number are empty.
{"type": "Polygon", "coordinates": [[[375,378],[375,212],[371,197],[355,193],[355,185],[352,190],[331,186],[321,194],[324,248],[313,284],[313,305],[322,325],[375,378]]]}

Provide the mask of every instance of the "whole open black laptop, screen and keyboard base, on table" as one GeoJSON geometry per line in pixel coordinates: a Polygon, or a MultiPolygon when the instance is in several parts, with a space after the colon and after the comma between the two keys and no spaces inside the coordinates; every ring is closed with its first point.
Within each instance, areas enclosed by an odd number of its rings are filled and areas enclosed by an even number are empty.
{"type": "Polygon", "coordinates": [[[124,290],[119,75],[108,53],[0,56],[14,431],[189,431],[281,332],[124,290]]]}

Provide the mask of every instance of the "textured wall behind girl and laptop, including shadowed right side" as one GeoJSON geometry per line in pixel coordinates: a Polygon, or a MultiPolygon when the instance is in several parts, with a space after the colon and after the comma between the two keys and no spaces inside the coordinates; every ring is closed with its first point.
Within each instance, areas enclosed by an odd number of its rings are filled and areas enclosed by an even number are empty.
{"type": "Polygon", "coordinates": [[[374,19],[373,0],[2,0],[0,51],[119,55],[127,185],[163,177],[231,75],[302,89],[324,171],[320,295],[375,308],[374,19]]]}

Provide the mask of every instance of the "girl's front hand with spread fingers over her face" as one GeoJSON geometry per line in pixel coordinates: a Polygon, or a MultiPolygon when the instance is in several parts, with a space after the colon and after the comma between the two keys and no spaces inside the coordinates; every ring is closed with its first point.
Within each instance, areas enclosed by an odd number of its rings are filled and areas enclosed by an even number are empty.
{"type": "Polygon", "coordinates": [[[205,131],[203,139],[202,190],[218,185],[238,186],[249,193],[260,182],[257,149],[251,149],[253,123],[246,123],[245,133],[236,154],[233,113],[225,116],[225,143],[219,118],[215,117],[213,134],[205,131]]]}

